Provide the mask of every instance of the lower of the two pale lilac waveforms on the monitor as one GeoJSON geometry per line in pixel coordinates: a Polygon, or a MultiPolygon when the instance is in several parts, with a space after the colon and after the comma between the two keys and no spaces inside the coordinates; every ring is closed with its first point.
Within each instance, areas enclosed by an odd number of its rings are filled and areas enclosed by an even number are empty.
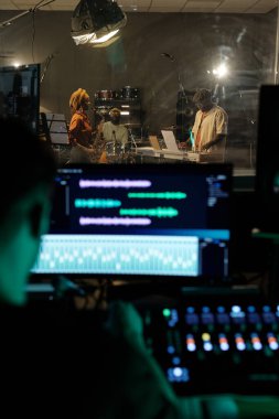
{"type": "Polygon", "coordinates": [[[81,226],[149,226],[150,218],[120,217],[81,217],[81,226]]]}

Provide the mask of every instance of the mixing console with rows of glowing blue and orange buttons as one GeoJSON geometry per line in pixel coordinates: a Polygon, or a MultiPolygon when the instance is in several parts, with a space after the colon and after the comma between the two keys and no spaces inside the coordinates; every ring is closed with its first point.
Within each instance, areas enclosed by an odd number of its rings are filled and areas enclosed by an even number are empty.
{"type": "Polygon", "coordinates": [[[178,394],[278,394],[279,305],[138,309],[147,345],[178,394]]]}

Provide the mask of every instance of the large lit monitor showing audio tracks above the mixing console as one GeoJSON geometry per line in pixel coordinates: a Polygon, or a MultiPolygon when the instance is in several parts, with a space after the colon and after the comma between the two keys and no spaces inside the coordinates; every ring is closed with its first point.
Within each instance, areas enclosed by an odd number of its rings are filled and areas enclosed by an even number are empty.
{"type": "Polygon", "coordinates": [[[125,278],[228,275],[229,164],[58,169],[31,272],[125,278]]]}

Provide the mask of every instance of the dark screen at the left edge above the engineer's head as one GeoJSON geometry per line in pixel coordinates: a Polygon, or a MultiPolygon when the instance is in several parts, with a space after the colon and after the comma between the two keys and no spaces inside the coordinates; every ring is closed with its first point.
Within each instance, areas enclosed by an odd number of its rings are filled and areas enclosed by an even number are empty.
{"type": "Polygon", "coordinates": [[[0,115],[23,119],[39,131],[40,64],[0,67],[0,115]]]}

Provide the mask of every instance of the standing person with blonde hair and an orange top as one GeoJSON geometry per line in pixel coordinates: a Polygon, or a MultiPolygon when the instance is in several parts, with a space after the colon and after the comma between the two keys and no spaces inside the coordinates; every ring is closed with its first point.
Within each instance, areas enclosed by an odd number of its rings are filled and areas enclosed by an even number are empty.
{"type": "Polygon", "coordinates": [[[72,146],[69,163],[92,163],[94,158],[93,127],[87,115],[90,105],[88,93],[78,88],[69,97],[72,118],[68,141],[72,146]]]}

